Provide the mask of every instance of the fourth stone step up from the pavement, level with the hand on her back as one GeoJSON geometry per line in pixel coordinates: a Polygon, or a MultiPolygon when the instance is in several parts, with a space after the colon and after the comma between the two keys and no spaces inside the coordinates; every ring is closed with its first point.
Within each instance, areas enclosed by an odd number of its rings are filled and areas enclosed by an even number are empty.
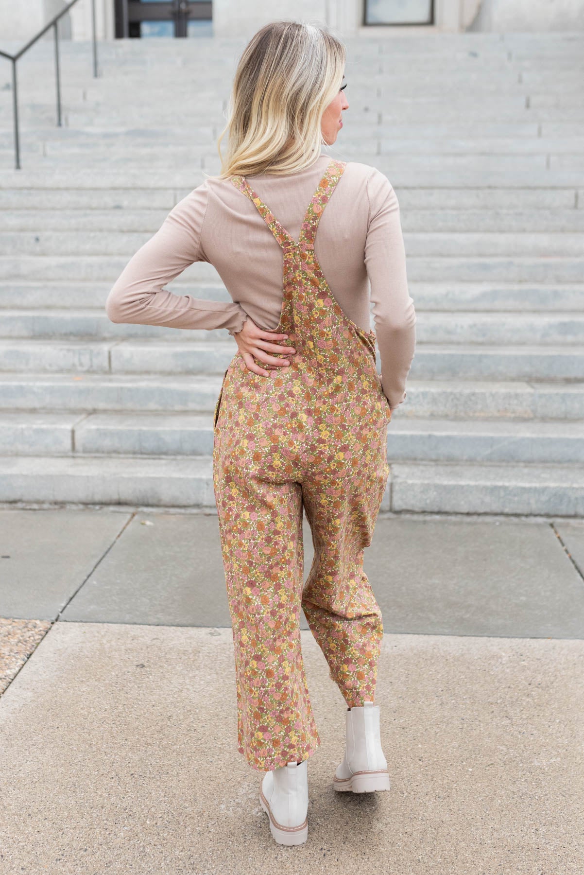
{"type": "MultiPolygon", "coordinates": [[[[73,374],[223,374],[233,341],[0,339],[0,371],[73,374]]],[[[379,353],[378,353],[379,365],[379,353]]],[[[477,346],[418,341],[414,380],[582,380],[584,346],[477,346]]]]}

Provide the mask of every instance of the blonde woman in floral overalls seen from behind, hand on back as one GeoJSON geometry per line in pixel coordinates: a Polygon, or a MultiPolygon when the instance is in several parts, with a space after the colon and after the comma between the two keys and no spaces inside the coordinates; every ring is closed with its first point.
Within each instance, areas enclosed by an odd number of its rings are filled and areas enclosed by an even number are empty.
{"type": "Polygon", "coordinates": [[[281,844],[308,836],[307,763],[320,744],[301,606],[347,705],[334,787],[389,788],[374,701],[383,627],[363,551],[415,313],[393,187],[371,166],[321,153],[349,107],[344,60],[320,26],[276,21],[254,35],[235,74],[222,172],[177,203],[106,304],[114,322],[225,328],[238,346],[214,410],[213,484],[238,749],[266,773],[261,805],[281,844]],[[218,270],[232,302],[163,290],[197,261],[218,270]],[[302,508],[315,547],[305,586],[302,508]]]}

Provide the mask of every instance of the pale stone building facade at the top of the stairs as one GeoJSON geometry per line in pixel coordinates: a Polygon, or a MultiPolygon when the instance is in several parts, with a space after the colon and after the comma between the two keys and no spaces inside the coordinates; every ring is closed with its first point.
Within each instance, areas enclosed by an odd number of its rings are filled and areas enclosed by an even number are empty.
{"type": "MultiPolygon", "coordinates": [[[[65,0],[0,0],[2,38],[26,39],[65,0]]],[[[584,29],[584,0],[167,0],[143,10],[129,0],[95,0],[98,38],[195,36],[249,38],[275,18],[319,21],[344,37],[413,30],[574,31],[584,29]],[[139,20],[142,19],[142,20],[139,20]],[[156,20],[155,20],[156,19],[156,20]]],[[[64,38],[91,35],[91,4],[76,4],[61,21],[64,38]]]]}

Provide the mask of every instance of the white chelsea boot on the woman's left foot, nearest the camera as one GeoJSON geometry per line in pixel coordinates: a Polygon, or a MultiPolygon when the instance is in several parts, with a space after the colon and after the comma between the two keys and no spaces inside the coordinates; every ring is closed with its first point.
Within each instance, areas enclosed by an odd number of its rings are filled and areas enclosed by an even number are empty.
{"type": "Polygon", "coordinates": [[[261,781],[261,807],[278,844],[302,844],[309,837],[308,760],[266,772],[261,781]]]}

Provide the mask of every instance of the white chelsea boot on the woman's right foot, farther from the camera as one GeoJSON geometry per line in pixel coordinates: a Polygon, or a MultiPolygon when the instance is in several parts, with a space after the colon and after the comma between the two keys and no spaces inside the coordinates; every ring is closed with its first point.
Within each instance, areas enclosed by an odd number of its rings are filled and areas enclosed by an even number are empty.
{"type": "Polygon", "coordinates": [[[332,779],[336,790],[372,793],[389,789],[387,761],[379,735],[379,705],[365,702],[347,708],[343,762],[332,779]]]}

